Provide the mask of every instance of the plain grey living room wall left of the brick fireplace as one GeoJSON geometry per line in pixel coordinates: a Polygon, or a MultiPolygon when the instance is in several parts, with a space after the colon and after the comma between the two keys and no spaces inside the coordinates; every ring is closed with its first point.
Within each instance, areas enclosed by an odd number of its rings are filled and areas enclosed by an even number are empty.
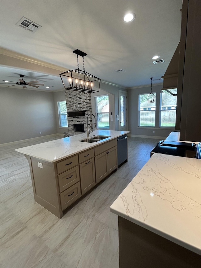
{"type": "Polygon", "coordinates": [[[52,92],[0,87],[0,144],[56,133],[52,92]]]}

